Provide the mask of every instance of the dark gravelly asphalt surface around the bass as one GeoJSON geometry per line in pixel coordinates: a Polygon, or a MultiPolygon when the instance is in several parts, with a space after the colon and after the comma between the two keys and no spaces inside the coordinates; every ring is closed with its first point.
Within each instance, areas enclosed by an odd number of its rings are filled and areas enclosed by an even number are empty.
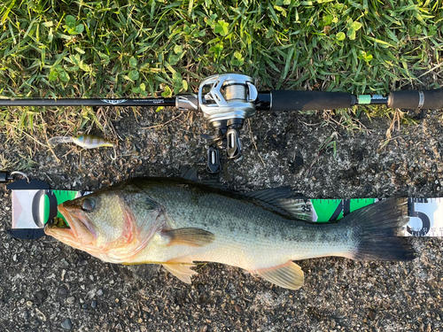
{"type": "MultiPolygon", "coordinates": [[[[206,141],[199,134],[206,129],[198,113],[143,129],[179,114],[121,113],[113,121],[115,162],[109,150],[69,145],[54,149],[58,162],[31,139],[17,145],[1,135],[0,156],[53,189],[93,190],[138,175],[177,176],[185,166],[203,169],[206,141]]],[[[366,130],[349,133],[315,114],[259,113],[242,135],[245,158],[225,163],[216,178],[238,191],[291,185],[307,197],[439,197],[441,113],[417,117],[383,146],[390,120],[362,115],[366,130]],[[330,150],[317,158],[334,132],[336,157],[330,150]]],[[[198,266],[186,285],[159,266],[107,264],[50,237],[14,239],[6,233],[11,195],[4,185],[0,205],[1,331],[443,330],[439,238],[411,239],[419,257],[408,263],[300,261],[306,285],[297,291],[214,263],[198,266]]]]}

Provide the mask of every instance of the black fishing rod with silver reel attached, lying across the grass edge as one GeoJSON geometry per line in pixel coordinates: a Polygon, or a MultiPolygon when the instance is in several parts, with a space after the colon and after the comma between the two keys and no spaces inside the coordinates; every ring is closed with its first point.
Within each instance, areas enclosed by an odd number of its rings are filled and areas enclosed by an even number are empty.
{"type": "Polygon", "coordinates": [[[361,104],[383,104],[399,109],[443,109],[443,89],[393,91],[387,96],[344,92],[271,90],[258,91],[253,78],[242,73],[221,73],[201,82],[198,94],[170,98],[77,98],[0,99],[0,106],[145,106],[175,107],[201,111],[213,129],[202,135],[212,143],[207,152],[207,170],[221,170],[219,151],[230,159],[242,156],[240,130],[256,111],[289,112],[348,108],[361,104]]]}

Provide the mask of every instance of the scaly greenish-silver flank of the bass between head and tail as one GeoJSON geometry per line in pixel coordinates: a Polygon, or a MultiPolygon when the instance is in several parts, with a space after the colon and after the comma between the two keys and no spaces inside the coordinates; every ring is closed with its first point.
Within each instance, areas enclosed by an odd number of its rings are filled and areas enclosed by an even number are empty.
{"type": "Polygon", "coordinates": [[[199,197],[196,202],[194,197],[187,199],[180,188],[154,189],[150,191],[150,196],[167,211],[167,220],[172,228],[204,228],[216,234],[217,239],[206,248],[190,248],[188,251],[186,248],[175,248],[170,253],[162,250],[158,254],[152,248],[147,248],[137,257],[140,261],[169,260],[183,253],[183,256],[192,256],[194,260],[253,270],[268,267],[269,261],[343,256],[353,249],[342,228],[334,226],[330,234],[330,227],[288,220],[248,201],[210,194],[199,197]],[[218,208],[214,209],[214,205],[218,208]],[[244,212],[242,215],[245,216],[241,220],[238,219],[240,212],[244,212]],[[202,218],[202,215],[206,215],[206,218],[202,218]],[[244,255],[229,250],[236,242],[242,243],[238,246],[241,252],[246,252],[244,255]],[[315,244],[315,248],[311,243],[315,244]]]}

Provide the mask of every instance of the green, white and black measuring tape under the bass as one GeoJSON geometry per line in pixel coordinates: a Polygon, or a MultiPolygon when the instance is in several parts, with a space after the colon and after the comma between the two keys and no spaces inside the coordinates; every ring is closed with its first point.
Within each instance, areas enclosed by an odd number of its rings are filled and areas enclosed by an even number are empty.
{"type": "MultiPolygon", "coordinates": [[[[19,180],[9,184],[12,190],[13,236],[37,238],[44,235],[46,223],[63,218],[57,205],[89,194],[89,191],[52,190],[42,181],[19,180]]],[[[294,199],[303,212],[311,212],[313,221],[329,222],[343,218],[363,206],[374,204],[377,198],[294,199]]],[[[408,198],[408,226],[403,236],[443,236],[443,201],[441,198],[408,198]]]]}

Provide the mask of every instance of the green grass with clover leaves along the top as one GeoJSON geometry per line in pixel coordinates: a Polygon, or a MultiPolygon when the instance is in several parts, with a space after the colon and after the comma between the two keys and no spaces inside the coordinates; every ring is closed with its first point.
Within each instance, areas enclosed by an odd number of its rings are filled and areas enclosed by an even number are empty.
{"type": "MultiPolygon", "coordinates": [[[[0,27],[3,97],[168,96],[226,72],[355,94],[442,82],[437,0],[4,0],[0,27]]],[[[91,125],[86,108],[0,110],[10,136],[91,125]]]]}

